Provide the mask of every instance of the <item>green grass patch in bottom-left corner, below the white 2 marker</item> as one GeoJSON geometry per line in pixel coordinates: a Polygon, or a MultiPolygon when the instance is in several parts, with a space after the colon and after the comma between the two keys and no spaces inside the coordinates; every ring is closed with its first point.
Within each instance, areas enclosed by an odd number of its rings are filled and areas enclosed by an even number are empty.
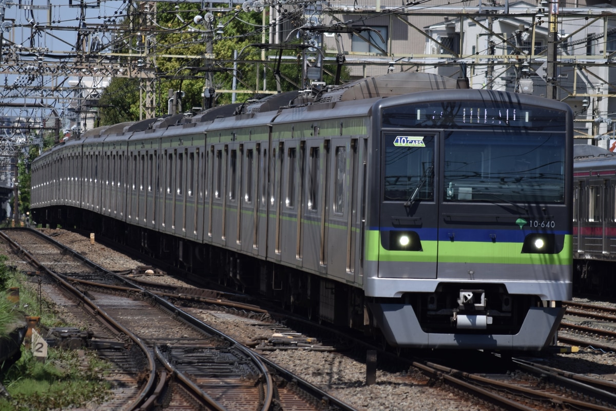
{"type": "Polygon", "coordinates": [[[49,349],[46,362],[34,359],[29,350],[4,376],[2,384],[11,396],[0,399],[0,411],[52,410],[83,407],[88,402],[102,402],[110,394],[110,384],[100,375],[107,365],[86,351],[49,349]]]}

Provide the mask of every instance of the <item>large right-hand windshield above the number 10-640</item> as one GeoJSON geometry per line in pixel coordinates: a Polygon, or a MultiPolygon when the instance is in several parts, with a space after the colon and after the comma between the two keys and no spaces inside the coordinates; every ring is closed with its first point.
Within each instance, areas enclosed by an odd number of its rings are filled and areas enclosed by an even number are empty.
{"type": "Polygon", "coordinates": [[[564,133],[448,131],[444,143],[444,201],[564,202],[564,133]]]}

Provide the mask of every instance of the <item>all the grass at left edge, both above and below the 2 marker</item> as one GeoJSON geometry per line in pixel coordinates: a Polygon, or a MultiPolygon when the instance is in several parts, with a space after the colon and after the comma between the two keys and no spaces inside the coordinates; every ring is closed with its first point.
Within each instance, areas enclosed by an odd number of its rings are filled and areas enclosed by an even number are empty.
{"type": "MultiPolygon", "coordinates": [[[[74,326],[66,324],[54,311],[54,305],[41,298],[37,285],[28,282],[21,272],[7,270],[5,256],[0,256],[0,338],[15,315],[38,315],[47,327],[74,326]],[[20,301],[15,304],[4,296],[3,288],[18,287],[20,301]]],[[[22,346],[22,357],[0,373],[0,383],[10,399],[0,397],[0,411],[38,411],[83,407],[89,402],[103,401],[110,394],[110,384],[102,380],[109,365],[92,351],[71,351],[49,348],[45,362],[34,358],[22,346]],[[79,354],[81,352],[81,356],[79,354]]]]}

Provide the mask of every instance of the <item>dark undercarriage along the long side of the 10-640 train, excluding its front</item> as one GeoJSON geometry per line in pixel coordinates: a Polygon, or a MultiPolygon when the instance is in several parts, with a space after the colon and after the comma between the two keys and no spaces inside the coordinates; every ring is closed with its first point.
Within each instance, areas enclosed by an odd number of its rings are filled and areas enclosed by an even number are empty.
{"type": "Polygon", "coordinates": [[[36,210],[34,221],[50,228],[89,230],[95,238],[107,238],[176,267],[187,280],[204,287],[217,283],[241,293],[257,293],[309,319],[378,333],[366,312],[363,290],[294,267],[132,226],[79,208],[36,210]]]}

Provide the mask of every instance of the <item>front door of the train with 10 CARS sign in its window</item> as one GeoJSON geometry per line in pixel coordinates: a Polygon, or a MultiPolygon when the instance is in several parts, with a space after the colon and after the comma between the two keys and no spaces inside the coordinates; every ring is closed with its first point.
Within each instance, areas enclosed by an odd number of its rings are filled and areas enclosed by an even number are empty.
{"type": "Polygon", "coordinates": [[[379,276],[436,279],[440,215],[434,173],[437,136],[425,130],[381,134],[384,184],[379,214],[379,276]],[[396,264],[400,258],[412,264],[396,264]]]}

